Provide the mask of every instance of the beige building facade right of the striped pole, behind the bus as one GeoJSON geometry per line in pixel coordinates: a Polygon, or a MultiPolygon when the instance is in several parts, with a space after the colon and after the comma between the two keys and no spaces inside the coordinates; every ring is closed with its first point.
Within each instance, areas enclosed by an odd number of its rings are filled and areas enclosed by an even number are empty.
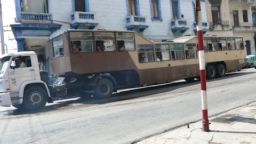
{"type": "Polygon", "coordinates": [[[255,0],[206,0],[208,35],[243,36],[247,55],[255,53],[253,4],[255,0]]]}

